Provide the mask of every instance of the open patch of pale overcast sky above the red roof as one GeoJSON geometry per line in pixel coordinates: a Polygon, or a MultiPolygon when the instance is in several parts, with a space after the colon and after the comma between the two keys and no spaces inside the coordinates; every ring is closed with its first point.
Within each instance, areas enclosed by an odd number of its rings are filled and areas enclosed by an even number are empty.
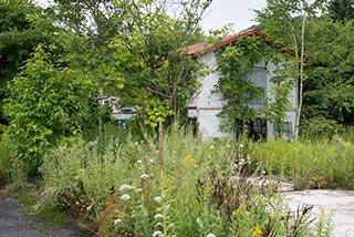
{"type": "Polygon", "coordinates": [[[235,32],[246,30],[254,24],[252,9],[266,7],[266,0],[214,0],[201,24],[204,30],[220,29],[227,23],[233,23],[235,32]]]}

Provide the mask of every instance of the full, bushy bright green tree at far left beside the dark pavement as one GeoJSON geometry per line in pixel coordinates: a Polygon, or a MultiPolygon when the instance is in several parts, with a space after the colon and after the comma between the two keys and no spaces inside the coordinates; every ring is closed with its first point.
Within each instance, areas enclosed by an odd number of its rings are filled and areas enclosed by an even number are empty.
{"type": "Polygon", "coordinates": [[[4,113],[10,117],[3,138],[34,174],[44,152],[79,135],[88,112],[93,80],[53,62],[50,47],[39,45],[9,86],[4,113]]]}

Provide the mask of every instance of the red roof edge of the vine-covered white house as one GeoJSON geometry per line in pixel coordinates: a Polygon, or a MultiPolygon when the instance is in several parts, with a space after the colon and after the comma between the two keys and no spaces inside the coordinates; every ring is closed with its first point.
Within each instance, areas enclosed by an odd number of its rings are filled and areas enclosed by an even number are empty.
{"type": "MultiPolygon", "coordinates": [[[[238,39],[247,38],[249,35],[258,35],[258,37],[267,40],[267,35],[264,33],[262,33],[261,31],[259,31],[257,29],[250,29],[250,30],[242,31],[240,33],[228,35],[228,37],[223,38],[223,40],[220,43],[218,43],[216,47],[210,47],[207,42],[201,42],[201,43],[196,43],[196,44],[189,45],[187,49],[188,54],[191,55],[192,58],[198,58],[205,53],[208,53],[212,50],[228,45],[228,44],[237,41],[238,39]]],[[[296,56],[296,53],[294,51],[287,49],[283,44],[277,43],[275,45],[279,49],[289,53],[290,55],[296,56]]]]}

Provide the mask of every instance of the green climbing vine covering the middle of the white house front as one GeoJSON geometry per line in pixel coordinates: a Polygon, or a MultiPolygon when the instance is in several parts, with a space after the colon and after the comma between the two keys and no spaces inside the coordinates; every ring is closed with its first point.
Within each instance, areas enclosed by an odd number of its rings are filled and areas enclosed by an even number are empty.
{"type": "Polygon", "coordinates": [[[222,117],[221,130],[236,134],[242,126],[240,121],[253,121],[257,112],[250,102],[264,94],[263,89],[257,87],[246,76],[253,73],[257,63],[264,59],[264,42],[258,37],[240,39],[218,53],[220,79],[216,92],[221,92],[227,104],[218,116],[222,117]]]}

